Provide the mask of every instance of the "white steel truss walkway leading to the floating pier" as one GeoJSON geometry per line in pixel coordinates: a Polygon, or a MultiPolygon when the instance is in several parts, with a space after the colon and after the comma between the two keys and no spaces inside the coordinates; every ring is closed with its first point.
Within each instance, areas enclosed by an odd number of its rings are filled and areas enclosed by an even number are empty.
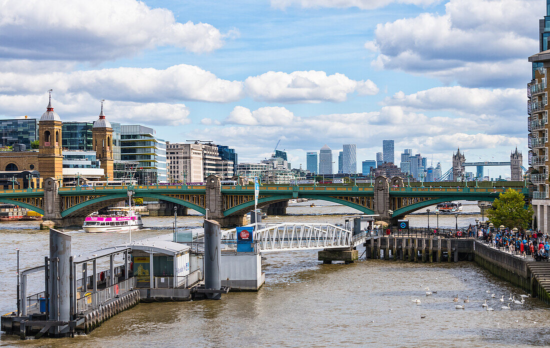
{"type": "MultiPolygon", "coordinates": [[[[364,232],[353,235],[348,229],[330,223],[258,223],[254,231],[260,252],[354,248],[364,243],[365,238],[364,232]]],[[[226,231],[223,239],[236,240],[237,229],[226,231]]]]}

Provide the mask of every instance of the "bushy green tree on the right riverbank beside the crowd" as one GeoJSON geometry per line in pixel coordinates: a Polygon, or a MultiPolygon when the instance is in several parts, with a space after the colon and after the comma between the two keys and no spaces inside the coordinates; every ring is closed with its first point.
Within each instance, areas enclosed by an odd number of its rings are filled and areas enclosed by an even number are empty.
{"type": "Polygon", "coordinates": [[[494,200],[487,217],[494,226],[501,224],[508,228],[527,228],[532,220],[533,207],[525,207],[525,196],[518,191],[508,189],[494,200]]]}

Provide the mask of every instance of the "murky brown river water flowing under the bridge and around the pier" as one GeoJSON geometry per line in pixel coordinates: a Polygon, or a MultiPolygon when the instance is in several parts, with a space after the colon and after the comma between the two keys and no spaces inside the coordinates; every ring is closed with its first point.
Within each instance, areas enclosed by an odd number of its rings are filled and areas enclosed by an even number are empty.
{"type": "MultiPolygon", "coordinates": [[[[349,207],[315,201],[291,205],[290,215],[266,221],[343,222],[349,207]]],[[[460,226],[481,220],[476,205],[463,202],[460,226]]],[[[431,207],[433,212],[434,207],[431,207]]],[[[426,226],[427,215],[408,216],[426,226]]],[[[145,217],[146,228],[133,239],[171,232],[173,217],[145,217]]],[[[202,216],[178,217],[178,226],[200,226],[202,216]]],[[[430,226],[436,226],[430,214],[430,226]]],[[[440,227],[454,227],[453,215],[439,216],[440,227]]],[[[124,243],[128,233],[72,235],[72,253],[124,243]]],[[[21,269],[38,265],[48,252],[48,232],[35,222],[0,224],[0,310],[15,309],[15,248],[21,269]]],[[[359,248],[361,255],[364,248],[359,248]]],[[[500,302],[524,294],[472,262],[409,263],[360,260],[322,265],[316,251],[274,252],[262,256],[266,284],[257,292],[229,293],[219,301],[139,304],[109,319],[89,335],[20,341],[0,336],[5,347],[532,347],[550,345],[550,310],[529,298],[524,305],[500,302]],[[426,288],[437,291],[426,296],[426,288]],[[497,295],[491,299],[486,290],[497,295]],[[455,309],[469,296],[464,310],[455,309]],[[420,299],[421,304],[412,303],[420,299]],[[494,311],[485,311],[481,304],[494,311]],[[425,316],[425,318],[421,318],[425,316]]],[[[35,279],[36,284],[43,279],[35,279]]],[[[32,293],[29,291],[29,293],[32,293]]]]}

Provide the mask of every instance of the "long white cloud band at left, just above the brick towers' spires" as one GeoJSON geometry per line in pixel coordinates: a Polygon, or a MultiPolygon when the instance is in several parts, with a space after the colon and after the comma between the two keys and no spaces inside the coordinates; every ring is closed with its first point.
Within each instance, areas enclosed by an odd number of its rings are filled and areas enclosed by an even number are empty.
{"type": "Polygon", "coordinates": [[[89,93],[95,99],[131,102],[239,100],[242,82],[222,80],[194,65],[153,68],[113,68],[47,74],[0,72],[0,93],[37,94],[52,88],[54,95],[89,93]]]}

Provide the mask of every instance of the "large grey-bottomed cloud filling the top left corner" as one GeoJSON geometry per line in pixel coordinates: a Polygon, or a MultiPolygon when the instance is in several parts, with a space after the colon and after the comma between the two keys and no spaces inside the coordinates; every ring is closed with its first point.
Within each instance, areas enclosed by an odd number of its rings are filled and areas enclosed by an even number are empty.
{"type": "Polygon", "coordinates": [[[0,57],[101,61],[175,46],[211,52],[224,35],[206,23],[179,23],[164,8],[135,0],[4,0],[0,57]]]}

